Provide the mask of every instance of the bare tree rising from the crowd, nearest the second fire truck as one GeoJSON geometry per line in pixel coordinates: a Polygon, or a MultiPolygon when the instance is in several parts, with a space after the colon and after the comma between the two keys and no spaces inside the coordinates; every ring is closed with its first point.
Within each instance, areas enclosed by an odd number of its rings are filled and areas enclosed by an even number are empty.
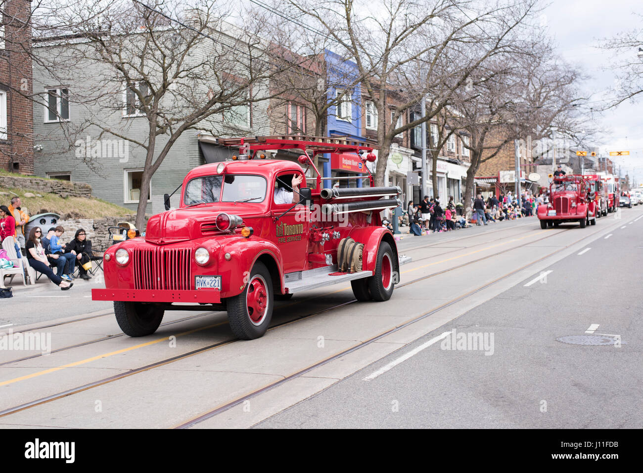
{"type": "MultiPolygon", "coordinates": [[[[474,177],[480,165],[501,152],[514,155],[513,140],[532,143],[559,132],[578,134],[575,105],[582,98],[577,75],[552,58],[547,44],[535,40],[520,53],[498,57],[478,69],[469,98],[457,105],[457,127],[469,135],[471,165],[467,170],[464,206],[471,207],[474,177]],[[563,121],[566,125],[563,127],[563,121]]],[[[531,147],[528,147],[531,148],[531,147]]],[[[532,157],[529,153],[523,157],[532,157]]],[[[538,156],[535,156],[536,158],[538,156]]]]}

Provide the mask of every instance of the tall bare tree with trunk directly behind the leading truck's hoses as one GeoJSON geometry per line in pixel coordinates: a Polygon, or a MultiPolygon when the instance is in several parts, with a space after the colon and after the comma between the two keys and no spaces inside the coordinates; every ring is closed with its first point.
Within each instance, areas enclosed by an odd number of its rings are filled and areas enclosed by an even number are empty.
{"type": "Polygon", "coordinates": [[[377,114],[388,112],[387,94],[402,90],[392,123],[423,96],[436,106],[424,117],[387,126],[378,120],[379,159],[376,185],[383,185],[386,161],[395,136],[431,120],[475,69],[507,48],[518,25],[534,10],[532,1],[507,1],[478,10],[466,1],[279,0],[280,11],[331,37],[336,48],[358,66],[363,87],[377,114]],[[473,47],[475,45],[475,47],[473,47]]]}

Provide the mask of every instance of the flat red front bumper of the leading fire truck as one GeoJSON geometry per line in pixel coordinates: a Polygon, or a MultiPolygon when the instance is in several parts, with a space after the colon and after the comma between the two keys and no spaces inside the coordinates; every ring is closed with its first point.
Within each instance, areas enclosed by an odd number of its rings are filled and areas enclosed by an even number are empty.
{"type": "Polygon", "coordinates": [[[221,292],[199,290],[92,289],[94,301],[221,303],[221,292]]]}

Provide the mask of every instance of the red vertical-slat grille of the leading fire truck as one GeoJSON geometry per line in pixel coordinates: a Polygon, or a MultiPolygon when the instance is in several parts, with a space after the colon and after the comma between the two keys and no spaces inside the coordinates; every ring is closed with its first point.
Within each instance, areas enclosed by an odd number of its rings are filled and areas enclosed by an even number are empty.
{"type": "Polygon", "coordinates": [[[189,290],[189,249],[156,247],[134,251],[134,289],[189,290]]]}

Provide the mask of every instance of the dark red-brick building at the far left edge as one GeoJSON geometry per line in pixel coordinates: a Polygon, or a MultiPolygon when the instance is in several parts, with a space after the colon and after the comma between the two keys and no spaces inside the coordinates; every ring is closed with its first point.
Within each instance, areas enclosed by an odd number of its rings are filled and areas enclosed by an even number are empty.
{"type": "Polygon", "coordinates": [[[33,173],[32,31],[29,0],[0,4],[0,168],[33,173]]]}

